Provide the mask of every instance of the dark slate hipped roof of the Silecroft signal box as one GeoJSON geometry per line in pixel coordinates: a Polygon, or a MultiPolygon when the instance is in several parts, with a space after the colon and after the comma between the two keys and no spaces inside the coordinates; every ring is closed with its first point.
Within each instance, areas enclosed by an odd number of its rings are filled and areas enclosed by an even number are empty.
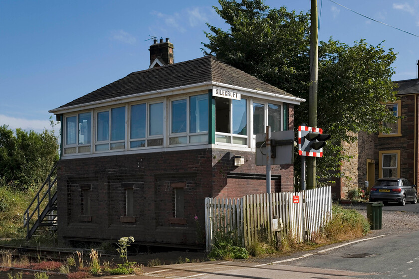
{"type": "Polygon", "coordinates": [[[211,81],[294,97],[209,55],[164,67],[133,72],[57,109],[211,81]]]}

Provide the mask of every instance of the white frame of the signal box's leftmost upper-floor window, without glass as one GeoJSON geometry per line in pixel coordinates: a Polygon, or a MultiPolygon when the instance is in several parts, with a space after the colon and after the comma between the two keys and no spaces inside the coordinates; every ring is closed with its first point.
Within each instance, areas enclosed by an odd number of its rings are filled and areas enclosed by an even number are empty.
{"type": "Polygon", "coordinates": [[[89,111],[82,111],[82,112],[77,112],[77,113],[73,113],[73,114],[69,114],[64,116],[63,119],[63,130],[64,130],[64,137],[63,137],[63,155],[65,156],[71,156],[71,155],[78,155],[78,154],[89,154],[92,152],[92,145],[93,145],[93,137],[94,137],[94,133],[93,133],[93,111],[89,110],[89,111]],[[86,113],[90,113],[90,143],[84,143],[84,144],[79,144],[79,134],[80,134],[80,127],[79,127],[79,117],[81,114],[86,114],[86,113]],[[70,143],[67,144],[67,137],[68,137],[68,129],[67,129],[67,119],[71,118],[71,117],[75,117],[76,118],[76,128],[75,128],[75,143],[70,143]],[[88,152],[79,152],[79,148],[80,147],[85,147],[85,146],[90,146],[90,150],[88,152]],[[75,152],[74,153],[65,153],[65,150],[69,148],[75,148],[75,152]]]}

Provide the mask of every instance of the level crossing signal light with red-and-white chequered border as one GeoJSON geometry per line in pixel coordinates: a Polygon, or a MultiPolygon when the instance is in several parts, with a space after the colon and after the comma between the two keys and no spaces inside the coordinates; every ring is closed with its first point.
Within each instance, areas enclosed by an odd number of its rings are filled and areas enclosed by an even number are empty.
{"type": "Polygon", "coordinates": [[[298,127],[298,154],[302,156],[322,157],[323,146],[330,134],[323,134],[323,130],[315,127],[298,127]]]}

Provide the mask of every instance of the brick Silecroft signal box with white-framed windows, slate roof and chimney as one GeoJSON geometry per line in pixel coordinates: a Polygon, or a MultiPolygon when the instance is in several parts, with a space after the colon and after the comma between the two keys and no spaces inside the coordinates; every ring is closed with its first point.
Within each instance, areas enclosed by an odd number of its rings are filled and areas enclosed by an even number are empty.
{"type": "MultiPolygon", "coordinates": [[[[62,245],[133,236],[198,247],[206,197],[266,192],[255,135],[292,130],[304,100],[213,56],[174,64],[168,39],[150,58],[149,69],[50,111],[62,131],[62,245]]],[[[272,166],[271,178],[272,192],[292,191],[293,165],[272,166]]]]}

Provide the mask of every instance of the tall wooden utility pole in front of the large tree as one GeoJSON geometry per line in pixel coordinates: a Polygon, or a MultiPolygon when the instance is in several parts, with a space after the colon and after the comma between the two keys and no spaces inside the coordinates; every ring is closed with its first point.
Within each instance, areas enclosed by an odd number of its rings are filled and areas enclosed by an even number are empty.
{"type": "MultiPolygon", "coordinates": [[[[310,17],[310,95],[308,126],[317,127],[317,68],[319,60],[317,0],[311,0],[310,17]]],[[[307,188],[316,188],[316,157],[307,158],[307,188]]]]}

